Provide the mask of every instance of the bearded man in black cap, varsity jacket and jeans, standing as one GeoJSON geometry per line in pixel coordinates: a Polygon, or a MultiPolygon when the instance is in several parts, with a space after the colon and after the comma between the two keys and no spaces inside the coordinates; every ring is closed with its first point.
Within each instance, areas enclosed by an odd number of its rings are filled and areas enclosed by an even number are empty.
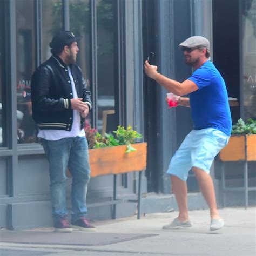
{"type": "Polygon", "coordinates": [[[72,232],[72,227],[96,230],[86,219],[90,165],[83,120],[92,109],[92,101],[82,70],[75,64],[80,38],[70,31],[57,33],[50,43],[52,56],[36,69],[31,79],[33,119],[49,161],[56,232],[72,232]],[[72,226],[66,219],[67,168],[73,178],[72,226]]]}

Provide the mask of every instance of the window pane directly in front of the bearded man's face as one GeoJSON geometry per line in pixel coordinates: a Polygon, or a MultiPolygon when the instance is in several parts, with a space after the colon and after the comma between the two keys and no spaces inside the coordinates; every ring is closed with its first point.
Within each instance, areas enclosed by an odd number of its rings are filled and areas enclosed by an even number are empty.
{"type": "MultiPolygon", "coordinates": [[[[82,36],[78,41],[79,52],[77,55],[77,65],[83,71],[87,83],[87,89],[91,91],[91,36],[90,36],[90,1],[89,0],[70,0],[70,31],[75,36],[82,36]]],[[[91,123],[91,116],[86,120],[91,123]]]]}

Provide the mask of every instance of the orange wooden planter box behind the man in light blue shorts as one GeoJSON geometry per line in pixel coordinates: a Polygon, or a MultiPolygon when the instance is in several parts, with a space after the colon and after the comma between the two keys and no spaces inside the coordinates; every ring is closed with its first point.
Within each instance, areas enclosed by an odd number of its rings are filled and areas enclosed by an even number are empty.
{"type": "Polygon", "coordinates": [[[219,156],[221,161],[256,161],[256,134],[232,135],[219,156]]]}

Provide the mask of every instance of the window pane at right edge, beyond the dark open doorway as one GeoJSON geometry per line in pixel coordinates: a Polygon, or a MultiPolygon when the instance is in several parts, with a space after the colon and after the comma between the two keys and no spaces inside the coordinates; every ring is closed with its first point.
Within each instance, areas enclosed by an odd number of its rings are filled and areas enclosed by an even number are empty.
{"type": "Polygon", "coordinates": [[[256,0],[242,2],[245,120],[256,119],[256,0]]]}

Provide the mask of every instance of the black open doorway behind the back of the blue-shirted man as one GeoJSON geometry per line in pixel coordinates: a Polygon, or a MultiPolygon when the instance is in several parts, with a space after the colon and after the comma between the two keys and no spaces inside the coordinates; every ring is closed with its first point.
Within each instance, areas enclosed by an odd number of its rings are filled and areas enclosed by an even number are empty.
{"type": "MultiPolygon", "coordinates": [[[[212,1],[213,63],[223,76],[228,97],[240,103],[239,0],[212,1]]],[[[240,107],[231,107],[232,123],[240,118],[240,107]]]]}

